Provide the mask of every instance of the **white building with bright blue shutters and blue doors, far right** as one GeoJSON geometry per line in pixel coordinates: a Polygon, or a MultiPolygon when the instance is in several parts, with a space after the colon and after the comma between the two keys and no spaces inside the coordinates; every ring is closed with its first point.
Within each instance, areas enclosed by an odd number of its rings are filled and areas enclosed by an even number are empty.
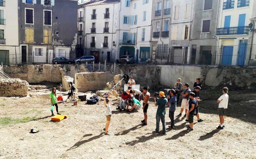
{"type": "MultiPolygon", "coordinates": [[[[254,18],[254,0],[221,0],[217,24],[217,63],[247,65],[250,55],[249,23],[254,18]]],[[[254,33],[250,33],[254,34],[254,33]]]]}

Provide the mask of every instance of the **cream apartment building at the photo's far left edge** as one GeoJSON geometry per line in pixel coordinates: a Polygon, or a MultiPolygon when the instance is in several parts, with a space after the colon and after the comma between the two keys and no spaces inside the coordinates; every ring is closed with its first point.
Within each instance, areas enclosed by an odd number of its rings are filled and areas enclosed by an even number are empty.
{"type": "Polygon", "coordinates": [[[0,64],[3,65],[20,63],[17,8],[18,1],[0,0],[0,64]]]}

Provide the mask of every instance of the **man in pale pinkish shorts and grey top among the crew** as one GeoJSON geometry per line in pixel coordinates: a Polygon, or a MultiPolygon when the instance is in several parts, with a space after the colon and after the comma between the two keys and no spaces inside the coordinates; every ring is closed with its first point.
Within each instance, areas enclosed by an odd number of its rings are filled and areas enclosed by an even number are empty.
{"type": "Polygon", "coordinates": [[[182,95],[182,103],[181,103],[181,109],[180,109],[180,114],[178,116],[182,115],[183,110],[185,109],[185,115],[184,117],[187,117],[187,109],[188,109],[188,105],[189,105],[189,93],[191,92],[191,90],[189,89],[189,84],[186,83],[184,86],[184,92],[181,93],[182,95]]]}

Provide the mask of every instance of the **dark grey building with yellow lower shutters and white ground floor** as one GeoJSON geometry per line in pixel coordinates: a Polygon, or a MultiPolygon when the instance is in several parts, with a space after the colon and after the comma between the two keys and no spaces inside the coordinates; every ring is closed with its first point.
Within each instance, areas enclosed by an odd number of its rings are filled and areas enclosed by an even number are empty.
{"type": "Polygon", "coordinates": [[[77,0],[18,2],[22,63],[51,63],[57,56],[75,58],[77,0]]]}

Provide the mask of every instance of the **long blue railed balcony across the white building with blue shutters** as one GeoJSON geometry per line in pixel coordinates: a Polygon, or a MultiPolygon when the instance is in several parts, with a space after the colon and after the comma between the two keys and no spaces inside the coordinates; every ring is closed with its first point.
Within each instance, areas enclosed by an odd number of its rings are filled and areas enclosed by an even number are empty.
{"type": "Polygon", "coordinates": [[[217,28],[217,35],[239,35],[239,34],[248,34],[249,27],[226,27],[226,28],[217,28]]]}

